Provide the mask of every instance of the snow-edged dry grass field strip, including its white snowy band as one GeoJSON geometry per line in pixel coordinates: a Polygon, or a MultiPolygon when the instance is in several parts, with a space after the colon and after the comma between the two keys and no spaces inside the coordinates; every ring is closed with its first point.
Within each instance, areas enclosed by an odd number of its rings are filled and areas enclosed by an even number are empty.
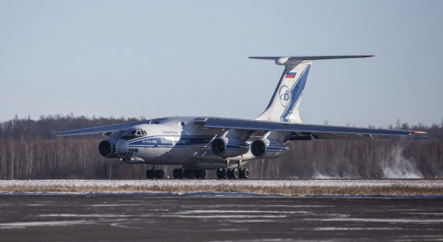
{"type": "Polygon", "coordinates": [[[443,180],[15,180],[0,181],[0,192],[443,195],[443,180]]]}

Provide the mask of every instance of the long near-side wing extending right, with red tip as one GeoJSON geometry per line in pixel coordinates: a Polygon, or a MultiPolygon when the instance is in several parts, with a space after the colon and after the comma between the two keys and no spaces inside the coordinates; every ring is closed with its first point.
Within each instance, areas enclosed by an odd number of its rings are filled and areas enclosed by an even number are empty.
{"type": "Polygon", "coordinates": [[[355,128],[344,126],[326,126],[305,123],[283,123],[275,121],[261,121],[251,119],[224,119],[224,118],[201,118],[194,123],[200,123],[205,128],[233,128],[249,131],[285,131],[293,132],[290,140],[309,138],[370,138],[371,135],[417,135],[424,134],[421,131],[401,131],[379,128],[355,128]]]}

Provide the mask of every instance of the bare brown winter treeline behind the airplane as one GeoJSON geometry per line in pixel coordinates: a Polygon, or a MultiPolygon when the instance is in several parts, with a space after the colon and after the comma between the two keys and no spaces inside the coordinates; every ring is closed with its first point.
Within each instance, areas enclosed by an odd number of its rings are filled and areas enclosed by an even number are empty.
{"type": "MultiPolygon", "coordinates": [[[[140,118],[88,118],[72,114],[0,123],[0,179],[144,179],[147,165],[104,159],[101,135],[56,137],[57,131],[132,122],[140,118]]],[[[251,178],[442,178],[443,123],[388,128],[419,130],[427,139],[312,140],[291,142],[280,159],[249,162],[251,178]]],[[[163,167],[170,173],[175,167],[163,167]]],[[[214,177],[208,172],[210,177],[214,177]]]]}

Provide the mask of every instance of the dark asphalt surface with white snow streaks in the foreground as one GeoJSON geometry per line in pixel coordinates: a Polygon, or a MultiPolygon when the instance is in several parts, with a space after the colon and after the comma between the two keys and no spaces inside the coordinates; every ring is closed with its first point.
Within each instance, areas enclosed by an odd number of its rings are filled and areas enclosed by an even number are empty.
{"type": "Polygon", "coordinates": [[[0,241],[442,241],[443,198],[1,194],[0,241]]]}

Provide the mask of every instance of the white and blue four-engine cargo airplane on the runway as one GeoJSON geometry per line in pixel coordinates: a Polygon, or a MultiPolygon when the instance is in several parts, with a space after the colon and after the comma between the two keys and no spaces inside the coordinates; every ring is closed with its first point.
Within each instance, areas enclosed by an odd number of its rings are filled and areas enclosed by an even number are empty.
{"type": "Polygon", "coordinates": [[[425,132],[355,128],[302,123],[300,99],[312,61],[367,58],[360,56],[253,56],[284,66],[276,90],[264,112],[256,119],[213,116],[170,116],[110,126],[61,131],[57,136],[102,134],[98,145],[102,157],[127,164],[150,164],[147,179],[163,179],[157,165],[181,165],[174,179],[205,179],[216,170],[218,179],[247,179],[244,164],[254,159],[287,155],[290,141],[316,139],[371,139],[372,135],[421,135],[425,132]]]}

